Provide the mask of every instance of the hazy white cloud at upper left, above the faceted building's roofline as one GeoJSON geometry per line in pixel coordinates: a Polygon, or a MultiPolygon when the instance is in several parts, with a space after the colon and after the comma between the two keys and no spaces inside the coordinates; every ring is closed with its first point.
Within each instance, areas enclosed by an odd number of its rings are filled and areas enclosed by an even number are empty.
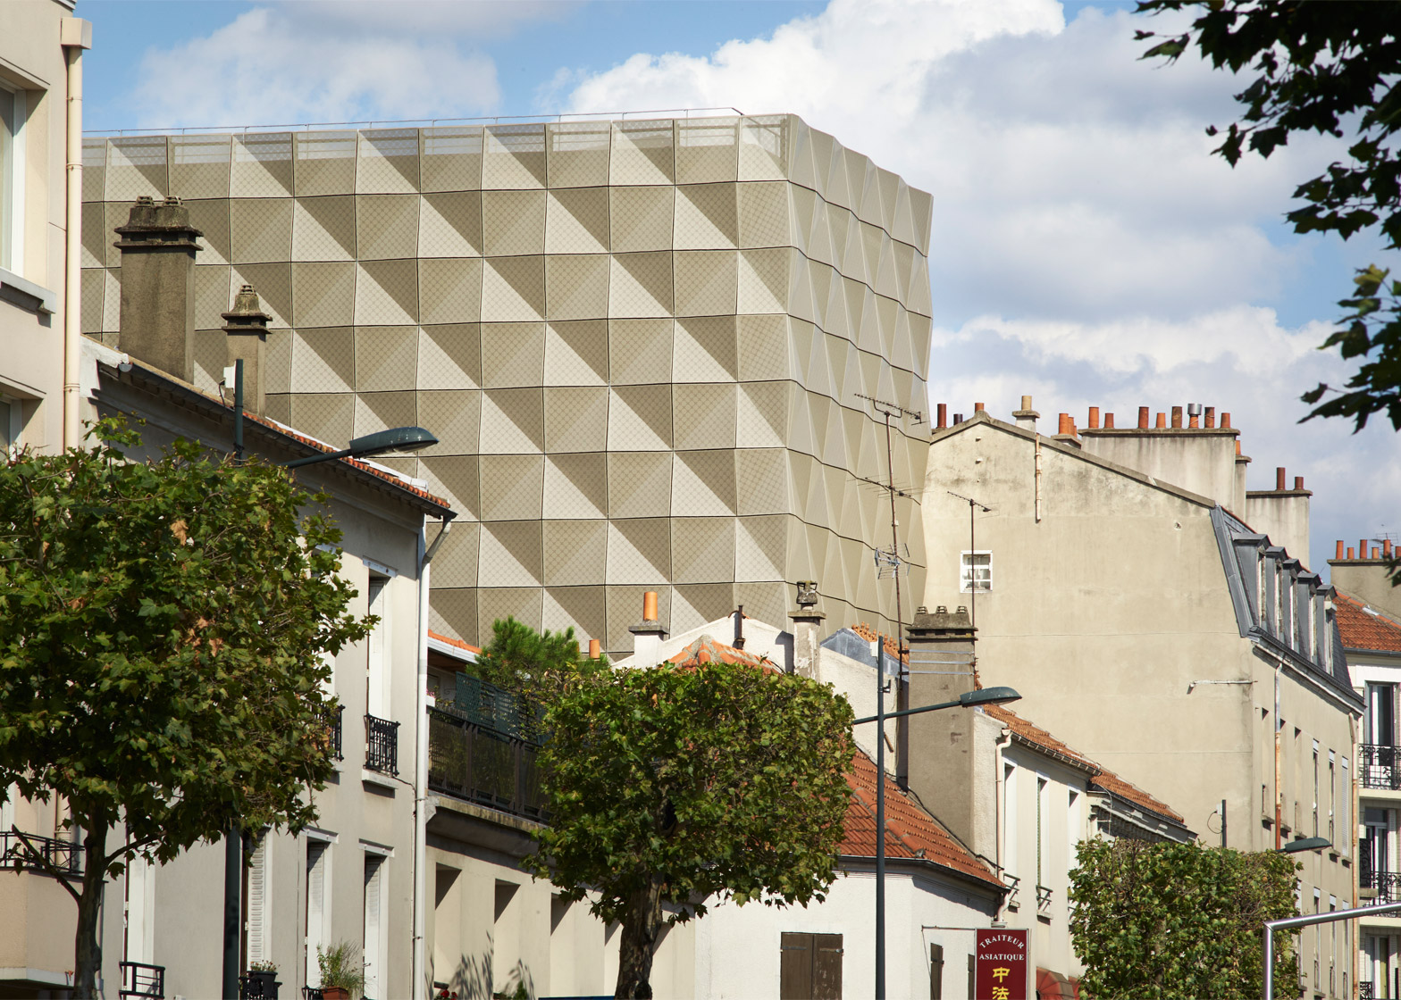
{"type": "Polygon", "coordinates": [[[144,127],[486,113],[500,87],[475,43],[572,6],[269,3],[147,50],[134,101],[144,127]]]}

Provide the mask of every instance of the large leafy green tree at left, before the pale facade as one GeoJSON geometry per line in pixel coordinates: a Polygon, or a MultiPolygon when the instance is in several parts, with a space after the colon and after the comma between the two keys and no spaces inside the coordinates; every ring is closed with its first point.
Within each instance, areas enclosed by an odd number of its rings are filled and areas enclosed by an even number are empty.
{"type": "MultiPolygon", "coordinates": [[[[321,654],[363,639],[336,531],[277,468],[198,444],[0,464],[0,789],[67,804],[83,831],[74,992],[94,996],[102,882],[231,825],[315,819],[333,769],[321,654]],[[122,843],[109,845],[125,826],[122,843]]],[[[0,791],[0,794],[4,794],[0,791]]],[[[24,861],[57,873],[35,850],[24,861]]]]}

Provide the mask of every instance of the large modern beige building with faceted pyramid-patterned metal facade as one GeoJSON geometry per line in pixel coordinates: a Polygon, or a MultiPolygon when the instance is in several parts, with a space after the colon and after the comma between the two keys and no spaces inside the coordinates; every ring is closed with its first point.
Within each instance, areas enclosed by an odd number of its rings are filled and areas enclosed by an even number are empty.
{"type": "MultiPolygon", "coordinates": [[[[203,231],[196,382],[233,293],[272,314],[269,416],[388,457],[460,511],[436,632],[573,625],[626,651],[743,604],[894,620],[884,419],[926,408],[930,199],[792,115],[92,137],[84,332],[115,345],[113,228],[140,195],[203,231]]],[[[929,431],[894,422],[897,486],[929,431]]],[[[918,492],[899,500],[923,592],[918,492]]]]}

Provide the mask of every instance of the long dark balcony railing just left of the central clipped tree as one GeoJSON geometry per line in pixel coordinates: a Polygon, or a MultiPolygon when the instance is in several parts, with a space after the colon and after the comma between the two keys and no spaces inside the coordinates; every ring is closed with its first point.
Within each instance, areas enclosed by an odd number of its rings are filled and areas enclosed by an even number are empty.
{"type": "Polygon", "coordinates": [[[502,812],[546,818],[538,742],[495,731],[460,711],[427,711],[430,789],[502,812]]]}

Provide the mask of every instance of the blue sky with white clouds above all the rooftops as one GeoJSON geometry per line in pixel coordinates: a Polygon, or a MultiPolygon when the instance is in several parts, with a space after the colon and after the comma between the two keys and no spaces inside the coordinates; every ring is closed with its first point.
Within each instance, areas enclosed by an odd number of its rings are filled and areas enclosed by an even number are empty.
{"type": "Polygon", "coordinates": [[[1346,368],[1314,347],[1374,242],[1300,238],[1332,158],[1230,169],[1208,123],[1241,83],[1139,62],[1131,3],[1059,0],[81,0],[85,125],[412,119],[731,105],[792,111],[934,196],[932,402],[1055,420],[1230,410],[1255,461],[1316,490],[1309,564],[1395,531],[1401,447],[1296,422],[1346,368]]]}

